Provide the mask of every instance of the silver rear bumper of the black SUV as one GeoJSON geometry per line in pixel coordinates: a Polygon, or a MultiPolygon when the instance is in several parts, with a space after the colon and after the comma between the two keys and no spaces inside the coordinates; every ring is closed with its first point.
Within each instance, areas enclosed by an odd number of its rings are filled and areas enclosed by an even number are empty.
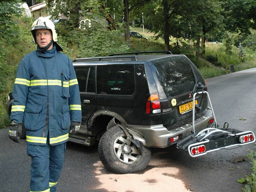
{"type": "MultiPolygon", "coordinates": [[[[204,111],[204,116],[195,120],[195,131],[201,131],[208,126],[208,121],[213,118],[211,108],[204,111]]],[[[177,135],[182,135],[185,138],[192,134],[192,121],[182,125],[175,130],[168,131],[163,124],[154,126],[134,126],[128,125],[128,129],[133,132],[139,132],[143,136],[143,145],[149,148],[166,148],[169,147],[168,139],[177,135]]],[[[132,132],[131,132],[132,133],[132,132]]]]}

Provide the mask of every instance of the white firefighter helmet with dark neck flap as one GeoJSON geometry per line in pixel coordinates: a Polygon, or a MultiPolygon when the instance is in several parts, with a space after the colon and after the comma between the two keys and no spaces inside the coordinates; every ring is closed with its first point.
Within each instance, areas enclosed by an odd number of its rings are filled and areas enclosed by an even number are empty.
{"type": "MultiPolygon", "coordinates": [[[[31,27],[31,33],[32,33],[35,43],[36,43],[36,29],[50,29],[52,31],[52,40],[56,46],[57,51],[63,51],[62,47],[57,43],[56,27],[51,20],[49,20],[45,17],[39,17],[37,20],[34,21],[34,23],[32,24],[32,27],[31,27]]],[[[51,44],[52,44],[52,42],[46,46],[49,47],[51,44]]],[[[48,49],[48,47],[47,47],[47,49],[48,49]]],[[[46,50],[45,47],[43,47],[43,48],[44,48],[44,50],[46,50]]]]}

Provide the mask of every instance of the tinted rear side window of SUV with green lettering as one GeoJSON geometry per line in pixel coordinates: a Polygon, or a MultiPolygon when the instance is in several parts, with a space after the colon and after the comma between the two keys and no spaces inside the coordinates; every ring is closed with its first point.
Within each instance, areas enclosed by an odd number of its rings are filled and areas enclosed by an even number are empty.
{"type": "Polygon", "coordinates": [[[97,94],[132,95],[134,89],[134,66],[97,66],[97,94]]]}

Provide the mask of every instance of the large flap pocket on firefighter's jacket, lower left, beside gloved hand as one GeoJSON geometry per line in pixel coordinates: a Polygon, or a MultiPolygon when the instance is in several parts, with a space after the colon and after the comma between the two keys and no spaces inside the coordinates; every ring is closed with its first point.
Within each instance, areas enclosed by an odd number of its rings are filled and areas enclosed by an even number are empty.
{"type": "Polygon", "coordinates": [[[26,106],[24,110],[24,126],[27,130],[37,130],[40,128],[41,106],[26,106]]]}

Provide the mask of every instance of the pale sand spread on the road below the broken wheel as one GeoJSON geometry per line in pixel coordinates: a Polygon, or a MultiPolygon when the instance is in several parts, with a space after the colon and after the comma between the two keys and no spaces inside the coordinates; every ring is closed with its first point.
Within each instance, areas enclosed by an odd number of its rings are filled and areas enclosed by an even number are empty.
{"type": "Polygon", "coordinates": [[[96,167],[95,177],[101,183],[97,189],[111,192],[189,191],[181,180],[175,178],[179,172],[175,167],[155,167],[142,174],[103,174],[101,170],[105,168],[100,161],[93,165],[96,167]]]}

